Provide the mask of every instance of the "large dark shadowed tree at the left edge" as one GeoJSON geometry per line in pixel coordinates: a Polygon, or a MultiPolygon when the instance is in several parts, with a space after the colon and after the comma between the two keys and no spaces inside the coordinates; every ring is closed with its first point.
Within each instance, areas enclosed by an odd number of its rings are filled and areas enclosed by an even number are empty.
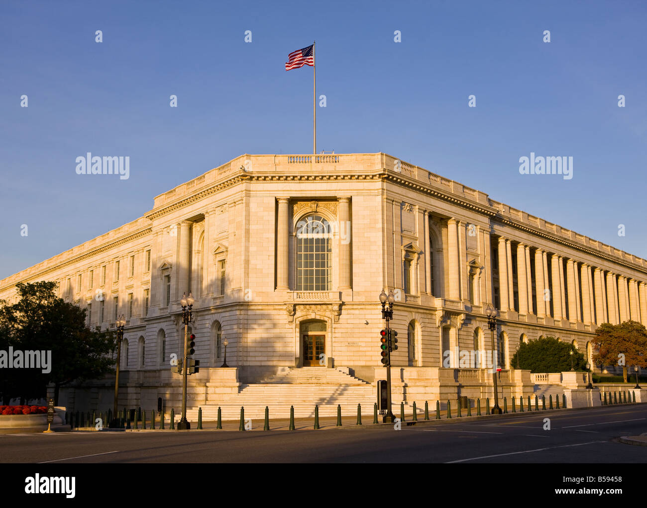
{"type": "Polygon", "coordinates": [[[0,344],[5,341],[23,351],[50,351],[51,365],[49,372],[7,369],[3,399],[43,397],[47,385],[53,383],[54,403],[58,404],[61,386],[97,379],[112,370],[114,332],[87,327],[85,309],[58,298],[56,282],[19,282],[16,287],[20,295],[16,304],[0,302],[0,344]]]}

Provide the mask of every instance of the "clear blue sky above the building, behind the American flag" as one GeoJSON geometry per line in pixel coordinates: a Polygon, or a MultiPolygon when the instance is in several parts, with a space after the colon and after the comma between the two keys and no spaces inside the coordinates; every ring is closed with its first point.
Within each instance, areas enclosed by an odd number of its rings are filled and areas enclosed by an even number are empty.
{"type": "Polygon", "coordinates": [[[239,154],[310,153],[312,69],[283,64],[313,40],[318,150],[384,151],[647,258],[646,18],[632,1],[2,3],[0,278],[239,154]],[[573,156],[573,178],[520,175],[531,151],[573,156]],[[130,156],[130,178],[76,175],[87,152],[130,156]]]}

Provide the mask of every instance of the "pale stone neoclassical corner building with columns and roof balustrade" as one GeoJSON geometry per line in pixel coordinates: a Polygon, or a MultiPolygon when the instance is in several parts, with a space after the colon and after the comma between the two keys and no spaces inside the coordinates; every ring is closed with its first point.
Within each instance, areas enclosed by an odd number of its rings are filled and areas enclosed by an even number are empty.
{"type": "MultiPolygon", "coordinates": [[[[599,324],[647,324],[646,260],[384,153],[239,156],[155,197],[144,217],[1,280],[0,298],[36,280],[59,282],[93,326],[124,314],[120,400],[142,408],[158,397],[179,407],[170,359],[192,291],[201,370],[188,405],[231,416],[243,404],[372,412],[383,289],[396,299],[398,405],[491,397],[492,376],[478,358],[459,365],[459,350],[496,350],[502,394],[525,396],[529,373],[510,365],[520,341],[553,335],[590,359],[599,324]]],[[[108,408],[111,383],[63,390],[61,403],[108,408]]]]}

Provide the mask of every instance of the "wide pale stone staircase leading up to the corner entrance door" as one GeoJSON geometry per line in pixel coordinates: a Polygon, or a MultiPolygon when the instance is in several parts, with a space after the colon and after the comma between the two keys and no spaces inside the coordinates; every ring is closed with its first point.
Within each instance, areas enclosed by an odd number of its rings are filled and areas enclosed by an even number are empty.
{"type": "MultiPolygon", "coordinates": [[[[203,421],[215,420],[218,407],[223,419],[239,419],[241,406],[245,418],[252,419],[263,419],[265,406],[270,418],[289,418],[291,406],[295,418],[312,418],[314,405],[319,406],[319,416],[336,416],[338,404],[345,418],[356,416],[358,404],[362,415],[372,416],[376,398],[373,385],[351,376],[348,369],[284,368],[259,383],[241,385],[237,394],[210,399],[202,406],[203,421]]],[[[187,410],[191,421],[197,421],[197,410],[187,410]]]]}

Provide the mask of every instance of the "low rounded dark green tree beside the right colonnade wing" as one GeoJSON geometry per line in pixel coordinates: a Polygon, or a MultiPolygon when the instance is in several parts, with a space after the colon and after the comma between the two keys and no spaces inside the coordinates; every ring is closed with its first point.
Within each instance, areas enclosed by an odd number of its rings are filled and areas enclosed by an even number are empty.
{"type": "Polygon", "coordinates": [[[529,343],[521,343],[512,357],[512,365],[535,372],[565,372],[571,370],[571,351],[573,368],[586,370],[584,355],[576,350],[573,344],[558,341],[555,337],[544,337],[529,343]]]}

